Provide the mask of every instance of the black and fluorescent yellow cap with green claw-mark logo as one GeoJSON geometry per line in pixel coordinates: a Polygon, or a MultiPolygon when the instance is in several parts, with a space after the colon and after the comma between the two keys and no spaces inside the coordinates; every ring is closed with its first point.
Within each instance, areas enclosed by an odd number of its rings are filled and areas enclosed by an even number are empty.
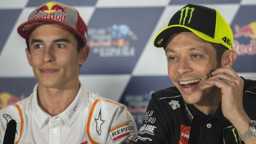
{"type": "Polygon", "coordinates": [[[154,39],[156,47],[165,47],[166,40],[176,32],[193,32],[202,39],[221,43],[233,49],[233,33],[222,15],[215,9],[201,5],[188,4],[170,19],[154,39]]]}

